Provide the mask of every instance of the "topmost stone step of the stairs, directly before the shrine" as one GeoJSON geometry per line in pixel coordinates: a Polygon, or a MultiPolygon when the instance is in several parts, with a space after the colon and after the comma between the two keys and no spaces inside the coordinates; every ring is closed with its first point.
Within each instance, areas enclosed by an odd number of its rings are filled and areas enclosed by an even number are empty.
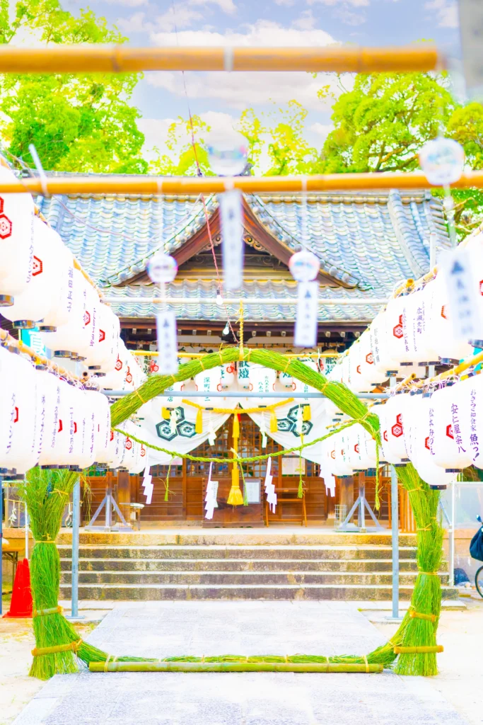
{"type": "MultiPolygon", "coordinates": [[[[416,534],[400,534],[401,546],[416,546],[416,534]]],[[[64,529],[57,537],[59,544],[72,542],[72,531],[64,529]]],[[[163,529],[161,531],[80,531],[80,544],[91,546],[127,545],[127,546],[284,546],[287,544],[330,546],[349,544],[386,544],[390,546],[391,532],[360,534],[358,531],[324,531],[324,529],[306,529],[301,526],[294,531],[268,529],[163,529]]]]}

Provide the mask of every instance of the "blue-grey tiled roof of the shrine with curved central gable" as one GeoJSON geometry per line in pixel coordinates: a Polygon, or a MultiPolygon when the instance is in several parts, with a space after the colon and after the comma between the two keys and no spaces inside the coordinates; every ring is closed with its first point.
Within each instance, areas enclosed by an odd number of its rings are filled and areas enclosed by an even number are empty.
{"type": "MultiPolygon", "coordinates": [[[[300,194],[295,196],[246,197],[261,225],[290,249],[300,248],[304,211],[300,194]]],[[[59,232],[91,277],[110,286],[109,295],[151,291],[139,286],[115,289],[146,268],[148,257],[163,247],[174,252],[204,224],[203,204],[195,196],[54,196],[36,200],[51,225],[59,232]],[[162,234],[161,230],[162,229],[162,234]]],[[[211,215],[216,197],[206,199],[211,215]]],[[[308,196],[307,244],[322,268],[356,289],[324,289],[324,296],[387,297],[408,277],[417,278],[429,269],[429,234],[437,233],[437,245],[448,247],[442,204],[428,191],[332,192],[308,196]],[[343,277],[345,273],[345,277],[343,277]]],[[[214,297],[216,283],[180,281],[172,294],[180,297],[214,297]]],[[[246,282],[247,297],[293,297],[295,286],[287,282],[246,282]]],[[[290,307],[254,305],[250,319],[293,319],[290,307]],[[290,315],[290,317],[287,317],[290,315]]],[[[115,308],[122,316],[151,316],[148,305],[123,303],[115,308]]],[[[327,320],[369,320],[377,310],[369,307],[329,307],[327,320]]],[[[217,305],[189,305],[177,310],[180,318],[222,319],[217,305]]],[[[327,315],[325,317],[324,315],[327,315]]],[[[247,317],[248,319],[248,317],[247,317]]]]}

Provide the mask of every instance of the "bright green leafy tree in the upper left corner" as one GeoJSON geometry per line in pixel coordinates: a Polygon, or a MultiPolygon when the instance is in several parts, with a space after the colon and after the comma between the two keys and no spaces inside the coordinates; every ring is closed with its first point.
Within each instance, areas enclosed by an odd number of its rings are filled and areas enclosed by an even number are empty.
{"type": "MultiPolygon", "coordinates": [[[[0,43],[20,34],[41,43],[124,43],[91,10],[79,17],[59,0],[0,0],[0,43]]],[[[0,76],[0,138],[28,165],[34,144],[49,170],[146,173],[138,109],[139,74],[0,76]]]]}

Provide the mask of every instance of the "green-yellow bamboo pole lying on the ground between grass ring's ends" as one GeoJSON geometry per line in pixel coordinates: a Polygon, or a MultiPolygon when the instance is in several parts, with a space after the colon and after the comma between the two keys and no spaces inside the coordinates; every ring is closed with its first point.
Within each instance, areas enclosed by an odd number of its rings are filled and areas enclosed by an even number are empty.
{"type": "Polygon", "coordinates": [[[382,664],[337,662],[91,662],[91,672],[382,672],[382,664]]]}

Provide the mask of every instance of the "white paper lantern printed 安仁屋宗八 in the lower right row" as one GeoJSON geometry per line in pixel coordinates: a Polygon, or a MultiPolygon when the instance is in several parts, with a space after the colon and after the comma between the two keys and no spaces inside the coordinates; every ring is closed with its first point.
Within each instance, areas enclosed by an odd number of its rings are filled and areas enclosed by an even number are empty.
{"type": "Polygon", "coordinates": [[[464,415],[461,386],[446,386],[432,394],[434,438],[431,452],[434,463],[450,471],[461,471],[471,465],[469,451],[463,447],[461,418],[464,415]]]}

